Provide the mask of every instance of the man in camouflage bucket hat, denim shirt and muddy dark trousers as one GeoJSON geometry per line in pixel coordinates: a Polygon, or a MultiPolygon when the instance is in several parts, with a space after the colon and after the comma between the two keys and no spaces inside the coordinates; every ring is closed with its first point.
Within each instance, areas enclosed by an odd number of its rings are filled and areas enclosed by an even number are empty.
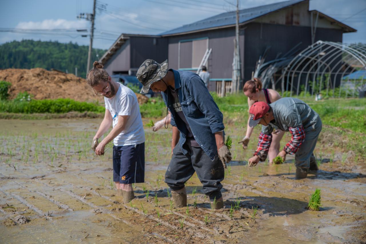
{"type": "Polygon", "coordinates": [[[143,85],[141,93],[160,91],[172,114],[172,159],[165,183],[171,188],[175,206],[187,206],[184,183],[196,172],[212,207],[221,209],[220,182],[231,153],[224,143],[223,114],[205,83],[193,72],[168,70],[167,60],[161,64],[145,60],[136,76],[143,85]]]}

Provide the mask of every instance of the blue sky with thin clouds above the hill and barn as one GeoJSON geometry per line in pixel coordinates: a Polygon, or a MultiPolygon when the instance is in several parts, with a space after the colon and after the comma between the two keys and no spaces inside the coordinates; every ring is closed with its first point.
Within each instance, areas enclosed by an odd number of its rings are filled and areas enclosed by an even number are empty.
{"type": "MultiPolygon", "coordinates": [[[[280,2],[281,0],[241,0],[240,8],[280,2]]],[[[97,1],[93,47],[108,49],[121,33],[158,34],[221,12],[233,11],[235,0],[100,0],[97,1]],[[107,5],[106,5],[107,4],[107,5]]],[[[0,44],[12,40],[77,42],[89,45],[75,29],[90,30],[90,22],[78,20],[79,13],[91,13],[93,0],[3,0],[0,30],[35,29],[33,33],[0,32],[0,44]],[[39,29],[63,29],[53,35],[39,29]],[[70,31],[74,30],[74,31],[70,31]]],[[[311,0],[310,10],[319,10],[358,30],[343,35],[347,43],[366,39],[366,0],[311,0]],[[355,15],[357,14],[357,15],[355,15]]]]}

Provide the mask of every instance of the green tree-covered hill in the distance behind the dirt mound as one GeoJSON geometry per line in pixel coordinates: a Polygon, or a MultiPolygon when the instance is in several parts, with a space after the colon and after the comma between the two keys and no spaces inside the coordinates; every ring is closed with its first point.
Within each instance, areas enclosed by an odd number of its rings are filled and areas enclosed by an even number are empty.
{"type": "MultiPolygon", "coordinates": [[[[77,67],[78,76],[85,78],[88,48],[72,42],[67,44],[33,40],[7,42],[0,45],[0,69],[53,68],[75,74],[77,67]]],[[[106,50],[93,49],[91,61],[97,59],[97,54],[100,58],[105,52],[106,50]]]]}

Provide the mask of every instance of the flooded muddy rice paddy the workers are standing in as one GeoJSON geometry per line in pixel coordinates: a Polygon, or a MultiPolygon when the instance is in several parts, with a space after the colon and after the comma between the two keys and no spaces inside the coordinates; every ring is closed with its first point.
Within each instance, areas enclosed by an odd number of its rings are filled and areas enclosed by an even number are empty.
{"type": "MultiPolygon", "coordinates": [[[[365,167],[329,161],[331,149],[322,145],[315,151],[322,156],[319,172],[295,180],[293,157],[283,165],[249,168],[245,160],[253,152],[235,144],[223,181],[225,209],[210,210],[194,175],[186,184],[188,208],[176,210],[164,183],[170,129],[145,128],[145,183],[134,185],[137,199],[122,204],[111,182],[112,150],[97,157],[89,149],[99,123],[0,120],[0,243],[359,243],[365,238],[365,167]],[[306,210],[316,188],[322,192],[321,211],[306,210]],[[19,214],[29,221],[5,226],[19,214]]],[[[244,133],[225,130],[234,142],[244,133]]],[[[255,144],[251,140],[250,148],[255,144]]]]}

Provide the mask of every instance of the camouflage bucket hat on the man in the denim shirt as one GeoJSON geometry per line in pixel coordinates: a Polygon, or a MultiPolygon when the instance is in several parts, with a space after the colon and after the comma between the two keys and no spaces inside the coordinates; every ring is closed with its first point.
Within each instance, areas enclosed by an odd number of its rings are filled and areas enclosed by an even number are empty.
{"type": "Polygon", "coordinates": [[[168,60],[159,64],[157,61],[152,59],[146,59],[138,68],[136,77],[142,83],[141,94],[149,92],[152,83],[157,82],[168,72],[168,60]]]}

